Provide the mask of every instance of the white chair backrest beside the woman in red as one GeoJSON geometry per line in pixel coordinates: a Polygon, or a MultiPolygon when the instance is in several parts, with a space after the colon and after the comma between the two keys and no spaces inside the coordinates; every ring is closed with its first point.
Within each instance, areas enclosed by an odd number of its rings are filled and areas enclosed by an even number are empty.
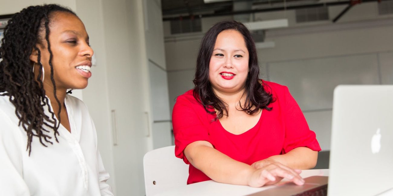
{"type": "Polygon", "coordinates": [[[143,157],[146,196],[187,184],[188,166],[174,156],[174,146],[147,152],[143,157]]]}

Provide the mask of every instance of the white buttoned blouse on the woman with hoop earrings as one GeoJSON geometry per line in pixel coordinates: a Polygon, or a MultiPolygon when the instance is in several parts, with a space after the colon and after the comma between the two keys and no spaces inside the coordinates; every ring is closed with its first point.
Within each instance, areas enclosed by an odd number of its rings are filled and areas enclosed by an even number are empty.
{"type": "MultiPolygon", "coordinates": [[[[0,96],[0,194],[9,196],[99,196],[113,195],[97,149],[94,123],[86,105],[66,95],[71,133],[60,125],[53,145],[42,145],[33,136],[31,154],[27,134],[15,115],[8,96],[0,96]]],[[[46,114],[51,114],[44,109],[46,114]]]]}

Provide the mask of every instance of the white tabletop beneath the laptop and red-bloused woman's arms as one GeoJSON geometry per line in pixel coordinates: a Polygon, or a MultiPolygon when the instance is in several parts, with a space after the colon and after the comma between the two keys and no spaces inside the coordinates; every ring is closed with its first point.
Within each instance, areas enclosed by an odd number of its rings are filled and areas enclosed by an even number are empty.
{"type": "MultiPolygon", "coordinates": [[[[302,178],[307,178],[309,176],[329,176],[329,169],[310,169],[303,170],[300,174],[302,178]]],[[[285,180],[285,179],[284,179],[285,180]]],[[[264,186],[260,188],[254,188],[243,185],[231,185],[225,183],[219,183],[213,180],[193,183],[190,185],[182,185],[176,187],[160,194],[157,196],[177,196],[177,195],[187,195],[187,196],[242,196],[247,194],[252,194],[255,192],[263,191],[275,187],[275,185],[264,186]]],[[[378,196],[393,196],[393,189],[390,189],[383,194],[378,196]]]]}

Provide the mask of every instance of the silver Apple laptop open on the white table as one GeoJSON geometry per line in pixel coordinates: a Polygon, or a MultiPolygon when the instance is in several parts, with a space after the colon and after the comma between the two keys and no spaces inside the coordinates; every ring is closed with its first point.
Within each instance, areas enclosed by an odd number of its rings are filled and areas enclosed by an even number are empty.
{"type": "MultiPolygon", "coordinates": [[[[334,89],[329,177],[284,183],[252,196],[378,195],[393,188],[393,85],[334,89]]],[[[389,191],[390,193],[390,191],[389,191]]]]}

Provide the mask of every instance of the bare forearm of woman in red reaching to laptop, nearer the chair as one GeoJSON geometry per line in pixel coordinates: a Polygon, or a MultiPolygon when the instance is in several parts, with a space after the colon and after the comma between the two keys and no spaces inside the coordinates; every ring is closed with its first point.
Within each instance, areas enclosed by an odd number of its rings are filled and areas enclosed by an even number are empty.
{"type": "Polygon", "coordinates": [[[184,153],[194,167],[217,182],[248,185],[250,175],[256,170],[217,151],[206,141],[189,144],[184,153]]]}

